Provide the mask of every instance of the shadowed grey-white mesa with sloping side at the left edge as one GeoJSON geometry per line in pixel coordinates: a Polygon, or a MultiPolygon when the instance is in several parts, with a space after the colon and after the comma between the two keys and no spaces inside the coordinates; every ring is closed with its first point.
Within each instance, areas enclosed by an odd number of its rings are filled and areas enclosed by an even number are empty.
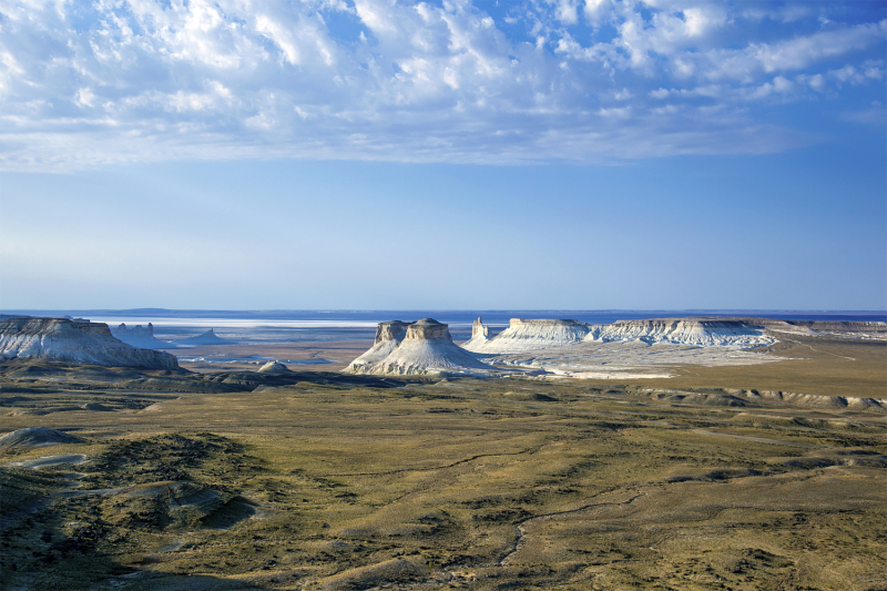
{"type": "Polygon", "coordinates": [[[82,318],[0,320],[0,359],[12,358],[145,369],[179,367],[173,355],[126,345],[111,335],[106,324],[82,318]]]}

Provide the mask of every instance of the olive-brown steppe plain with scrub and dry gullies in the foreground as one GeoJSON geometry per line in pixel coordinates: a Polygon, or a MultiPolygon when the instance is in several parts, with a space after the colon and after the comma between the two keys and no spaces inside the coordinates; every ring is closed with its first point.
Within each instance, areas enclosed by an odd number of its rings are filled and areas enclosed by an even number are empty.
{"type": "Polygon", "coordinates": [[[622,380],[6,361],[0,431],[82,442],[0,450],[3,589],[887,589],[887,414],[840,398],[887,398],[887,343],[767,353],[622,380]]]}

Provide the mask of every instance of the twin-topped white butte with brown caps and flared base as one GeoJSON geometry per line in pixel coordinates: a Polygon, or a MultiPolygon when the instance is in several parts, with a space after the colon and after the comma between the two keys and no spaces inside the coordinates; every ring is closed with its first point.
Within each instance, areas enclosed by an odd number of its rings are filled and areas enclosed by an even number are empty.
{"type": "Polygon", "coordinates": [[[349,365],[345,371],[370,375],[485,375],[496,370],[452,343],[446,324],[431,318],[406,325],[406,334],[398,342],[404,323],[381,323],[377,343],[370,350],[349,365]],[[387,326],[386,326],[387,325],[387,326]],[[379,342],[379,336],[391,338],[379,342]],[[379,347],[384,345],[384,347],[379,347]],[[385,357],[379,358],[385,349],[385,357]],[[360,361],[359,364],[357,361],[360,361]]]}

